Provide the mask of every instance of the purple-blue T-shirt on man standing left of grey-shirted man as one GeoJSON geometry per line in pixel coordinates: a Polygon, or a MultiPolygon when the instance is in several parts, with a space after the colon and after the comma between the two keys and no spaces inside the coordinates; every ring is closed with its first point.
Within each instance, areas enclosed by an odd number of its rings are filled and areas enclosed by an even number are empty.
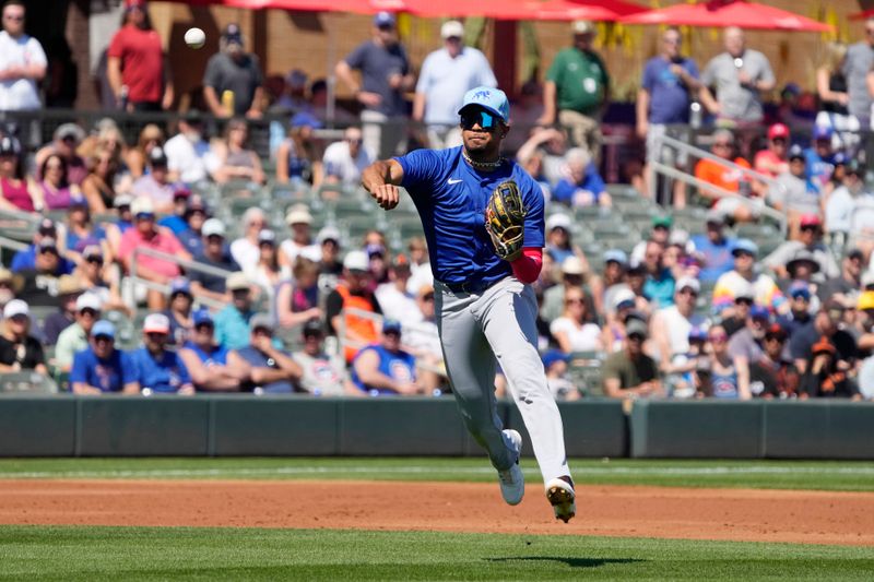
{"type": "Polygon", "coordinates": [[[689,90],[671,71],[672,64],[681,66],[689,76],[698,79],[698,66],[692,59],[681,57],[671,62],[659,56],[647,61],[641,86],[650,95],[650,123],[688,123],[692,102],[689,90]]]}

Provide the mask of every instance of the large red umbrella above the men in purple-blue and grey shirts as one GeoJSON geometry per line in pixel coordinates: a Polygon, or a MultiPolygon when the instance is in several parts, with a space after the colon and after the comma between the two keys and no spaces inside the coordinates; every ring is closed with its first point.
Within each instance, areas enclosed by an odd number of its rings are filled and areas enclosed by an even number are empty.
{"type": "Polygon", "coordinates": [[[771,31],[822,33],[831,26],[779,8],[744,0],[712,0],[698,4],[675,4],[622,19],[626,24],[674,24],[685,26],[740,26],[771,31]]]}

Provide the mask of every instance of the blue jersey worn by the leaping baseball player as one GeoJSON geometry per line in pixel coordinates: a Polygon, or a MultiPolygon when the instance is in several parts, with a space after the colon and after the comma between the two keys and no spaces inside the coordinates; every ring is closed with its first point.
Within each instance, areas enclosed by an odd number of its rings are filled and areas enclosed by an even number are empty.
{"type": "Polygon", "coordinates": [[[524,247],[543,248],[543,191],[513,162],[492,173],[473,169],[461,146],[416,150],[395,158],[403,168],[402,186],[422,218],[430,266],[438,281],[449,284],[492,284],[510,274],[510,263],[495,254],[485,230],[485,206],[497,185],[515,180],[528,209],[524,247]]]}

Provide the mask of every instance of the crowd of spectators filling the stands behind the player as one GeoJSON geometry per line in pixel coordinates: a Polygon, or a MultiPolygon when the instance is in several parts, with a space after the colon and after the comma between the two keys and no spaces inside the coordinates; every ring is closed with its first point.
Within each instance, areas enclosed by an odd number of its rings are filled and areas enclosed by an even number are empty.
{"type": "MultiPolygon", "coordinates": [[[[0,46],[15,48],[0,57],[0,109],[39,106],[46,59],[23,34],[23,5],[5,3],[0,46]]],[[[874,44],[874,22],[866,29],[874,44]]],[[[376,228],[349,239],[335,224],[314,228],[306,203],[287,209],[287,230],[269,219],[279,206],[252,205],[223,221],[203,195],[244,183],[243,198],[287,186],[336,201],[358,195],[363,168],[379,156],[460,143],[458,100],[496,80],[483,54],[464,46],[463,24],[447,22],[440,33],[442,47],[414,74],[394,17],[374,19],[371,37],[336,64],[361,112],[334,111],[349,127],[331,143],[319,133],[324,83],[308,86],[293,71],[268,91],[235,24],[204,73],[209,115],[191,109],[169,124],[145,124],[132,144],[111,116],[93,128],[63,123],[35,152],[15,131],[0,131],[0,210],[43,216],[27,248],[0,270],[0,371],[52,373],[81,394],[449,390],[424,239],[404,241],[399,253],[376,228]],[[250,123],[280,111],[287,131],[281,123],[272,132],[268,159],[250,144],[250,123]],[[226,122],[210,135],[213,118],[226,122]],[[149,285],[130,281],[134,254],[149,285]],[[130,321],[141,347],[121,342],[130,321]]],[[[593,256],[574,241],[593,226],[578,210],[593,209],[592,221],[622,212],[600,174],[610,75],[593,49],[595,27],[576,22],[571,34],[545,84],[525,84],[511,116],[532,126],[518,130],[516,158],[548,200],[535,290],[555,396],[874,397],[874,194],[855,133],[869,127],[869,41],[860,44],[867,51],[829,48],[807,143],[788,119],[767,117],[773,72],[743,31],[728,28],[725,51],[699,73],[680,32],[666,29],[643,71],[636,129],[648,165],[670,162],[699,180],[673,183],[671,207],[707,209],[704,228],[675,228],[668,209],[633,249],[593,256]],[[666,158],[660,138],[694,121],[696,104],[717,127],[712,157],[666,158]],[[763,222],[766,209],[788,224],[768,253],[735,234],[736,225],[763,222]],[[602,381],[580,385],[575,371],[592,363],[602,381]]],[[[146,3],[126,0],[107,52],[118,108],[174,102],[160,40],[146,3]]],[[[657,188],[649,178],[635,186],[641,201],[657,188]]]]}

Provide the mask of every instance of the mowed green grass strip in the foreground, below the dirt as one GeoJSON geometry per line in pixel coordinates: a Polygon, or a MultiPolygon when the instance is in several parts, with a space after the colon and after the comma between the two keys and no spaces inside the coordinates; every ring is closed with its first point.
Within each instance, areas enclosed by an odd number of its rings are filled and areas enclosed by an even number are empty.
{"type": "Polygon", "coordinates": [[[871,548],[324,530],[0,526],[0,578],[871,580],[871,548]]]}

